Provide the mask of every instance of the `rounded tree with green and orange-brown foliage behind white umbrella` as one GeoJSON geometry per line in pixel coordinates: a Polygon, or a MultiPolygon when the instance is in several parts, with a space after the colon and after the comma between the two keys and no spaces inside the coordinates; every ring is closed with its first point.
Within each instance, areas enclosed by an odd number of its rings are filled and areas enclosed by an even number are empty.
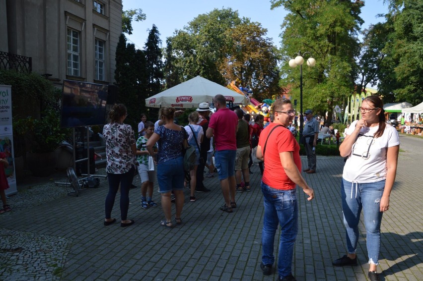
{"type": "Polygon", "coordinates": [[[201,14],[168,38],[167,87],[197,75],[226,85],[237,77],[255,95],[278,89],[277,51],[267,30],[231,8],[201,14]]]}

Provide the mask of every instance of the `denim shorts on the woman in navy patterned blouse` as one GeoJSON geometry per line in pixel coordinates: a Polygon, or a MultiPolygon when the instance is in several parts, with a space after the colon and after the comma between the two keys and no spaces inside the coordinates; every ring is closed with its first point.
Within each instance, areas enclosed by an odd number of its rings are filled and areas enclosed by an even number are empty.
{"type": "Polygon", "coordinates": [[[170,159],[157,165],[157,182],[160,193],[184,190],[184,158],[170,159]]]}

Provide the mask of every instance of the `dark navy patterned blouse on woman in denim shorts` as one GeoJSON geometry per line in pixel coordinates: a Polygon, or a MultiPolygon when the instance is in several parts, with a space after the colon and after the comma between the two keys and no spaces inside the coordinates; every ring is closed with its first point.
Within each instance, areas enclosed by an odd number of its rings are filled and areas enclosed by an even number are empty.
{"type": "Polygon", "coordinates": [[[158,140],[157,164],[183,156],[182,142],[185,130],[175,131],[164,126],[158,127],[154,132],[160,136],[158,140]]]}

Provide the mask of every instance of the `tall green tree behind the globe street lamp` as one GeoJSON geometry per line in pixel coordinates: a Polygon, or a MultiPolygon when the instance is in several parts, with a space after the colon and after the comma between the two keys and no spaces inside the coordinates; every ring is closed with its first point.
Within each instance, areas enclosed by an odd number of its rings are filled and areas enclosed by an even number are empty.
{"type": "MultiPolygon", "coordinates": [[[[362,1],[271,0],[272,8],[283,6],[288,14],[282,23],[282,55],[291,58],[299,50],[316,58],[314,68],[303,67],[304,106],[331,122],[333,108],[351,95],[357,78],[359,55],[357,34],[363,20],[362,1]]],[[[308,58],[308,55],[305,57],[308,58]]],[[[299,67],[282,65],[282,84],[299,98],[299,67]]]]}

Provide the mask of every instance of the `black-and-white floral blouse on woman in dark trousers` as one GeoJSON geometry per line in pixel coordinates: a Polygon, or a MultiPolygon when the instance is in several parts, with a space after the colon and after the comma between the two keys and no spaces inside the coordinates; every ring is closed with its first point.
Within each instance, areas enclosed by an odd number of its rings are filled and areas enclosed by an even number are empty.
{"type": "Polygon", "coordinates": [[[126,173],[137,160],[132,153],[131,145],[135,144],[135,134],[132,127],[123,123],[104,125],[103,138],[106,141],[108,173],[126,173]]]}

